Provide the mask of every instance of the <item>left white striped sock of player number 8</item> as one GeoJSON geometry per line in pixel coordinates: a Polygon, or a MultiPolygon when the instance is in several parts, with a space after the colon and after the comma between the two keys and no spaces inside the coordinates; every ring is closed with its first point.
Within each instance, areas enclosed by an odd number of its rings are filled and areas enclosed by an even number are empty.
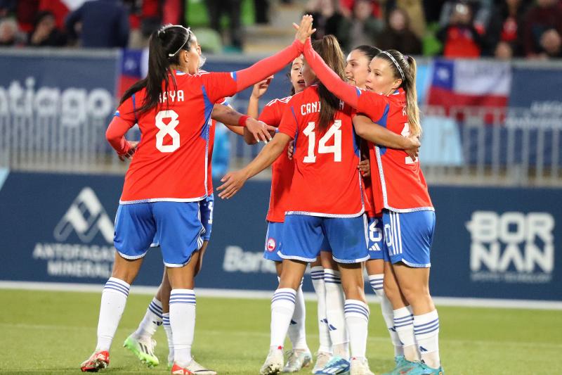
{"type": "Polygon", "coordinates": [[[110,350],[113,336],[125,310],[130,287],[125,281],[115,277],[110,277],[105,283],[101,293],[96,352],[110,350]]]}

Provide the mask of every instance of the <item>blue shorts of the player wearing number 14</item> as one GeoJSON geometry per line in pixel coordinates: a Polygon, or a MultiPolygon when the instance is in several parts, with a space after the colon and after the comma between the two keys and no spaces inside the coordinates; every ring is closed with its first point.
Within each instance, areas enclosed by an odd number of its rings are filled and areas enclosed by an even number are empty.
{"type": "Polygon", "coordinates": [[[286,215],[283,259],[314,262],[321,250],[329,246],[332,258],[339,263],[358,263],[369,259],[365,215],[358,217],[318,217],[286,215]]]}

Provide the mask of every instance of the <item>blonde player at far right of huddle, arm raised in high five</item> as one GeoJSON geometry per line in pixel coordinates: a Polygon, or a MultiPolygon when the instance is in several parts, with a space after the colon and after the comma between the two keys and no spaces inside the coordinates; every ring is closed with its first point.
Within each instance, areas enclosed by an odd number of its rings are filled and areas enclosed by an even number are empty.
{"type": "MultiPolygon", "coordinates": [[[[412,57],[394,50],[379,53],[370,63],[367,79],[367,89],[372,91],[360,91],[342,81],[315,53],[310,42],[305,47],[305,58],[330,91],[373,122],[386,125],[396,134],[421,134],[416,65],[412,57]]],[[[384,206],[385,244],[392,264],[385,269],[384,288],[393,305],[394,326],[408,361],[407,367],[399,371],[410,375],[442,374],[439,317],[429,294],[429,251],[435,210],[417,160],[391,148],[377,146],[375,152],[384,206]],[[399,287],[396,294],[387,288],[395,280],[399,287]],[[418,349],[421,362],[417,360],[418,349]]]]}

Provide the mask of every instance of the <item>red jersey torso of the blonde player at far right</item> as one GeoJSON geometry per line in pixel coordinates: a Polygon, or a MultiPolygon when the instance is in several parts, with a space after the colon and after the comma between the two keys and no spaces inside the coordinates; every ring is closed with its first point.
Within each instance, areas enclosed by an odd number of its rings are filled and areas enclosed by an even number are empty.
{"type": "MultiPolygon", "coordinates": [[[[406,115],[406,98],[403,90],[389,96],[368,91],[357,91],[358,112],[365,113],[373,122],[386,129],[408,136],[410,129],[406,115]]],[[[371,153],[372,155],[373,153],[371,153]]],[[[426,179],[421,172],[419,160],[415,162],[402,150],[374,148],[373,161],[377,160],[382,205],[396,212],[433,210],[426,179]]],[[[376,174],[371,172],[372,176],[376,174]]],[[[374,189],[377,189],[374,184],[374,189]]],[[[377,205],[377,199],[375,199],[377,205]]]]}

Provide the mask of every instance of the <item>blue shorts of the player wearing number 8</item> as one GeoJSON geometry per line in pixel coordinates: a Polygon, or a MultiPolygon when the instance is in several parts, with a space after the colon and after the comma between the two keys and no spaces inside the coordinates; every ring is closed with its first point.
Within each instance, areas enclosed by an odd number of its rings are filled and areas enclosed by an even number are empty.
{"type": "Polygon", "coordinates": [[[152,202],[119,205],[115,248],[125,259],[143,258],[159,239],[164,265],[183,267],[203,245],[199,202],[152,202]]]}

